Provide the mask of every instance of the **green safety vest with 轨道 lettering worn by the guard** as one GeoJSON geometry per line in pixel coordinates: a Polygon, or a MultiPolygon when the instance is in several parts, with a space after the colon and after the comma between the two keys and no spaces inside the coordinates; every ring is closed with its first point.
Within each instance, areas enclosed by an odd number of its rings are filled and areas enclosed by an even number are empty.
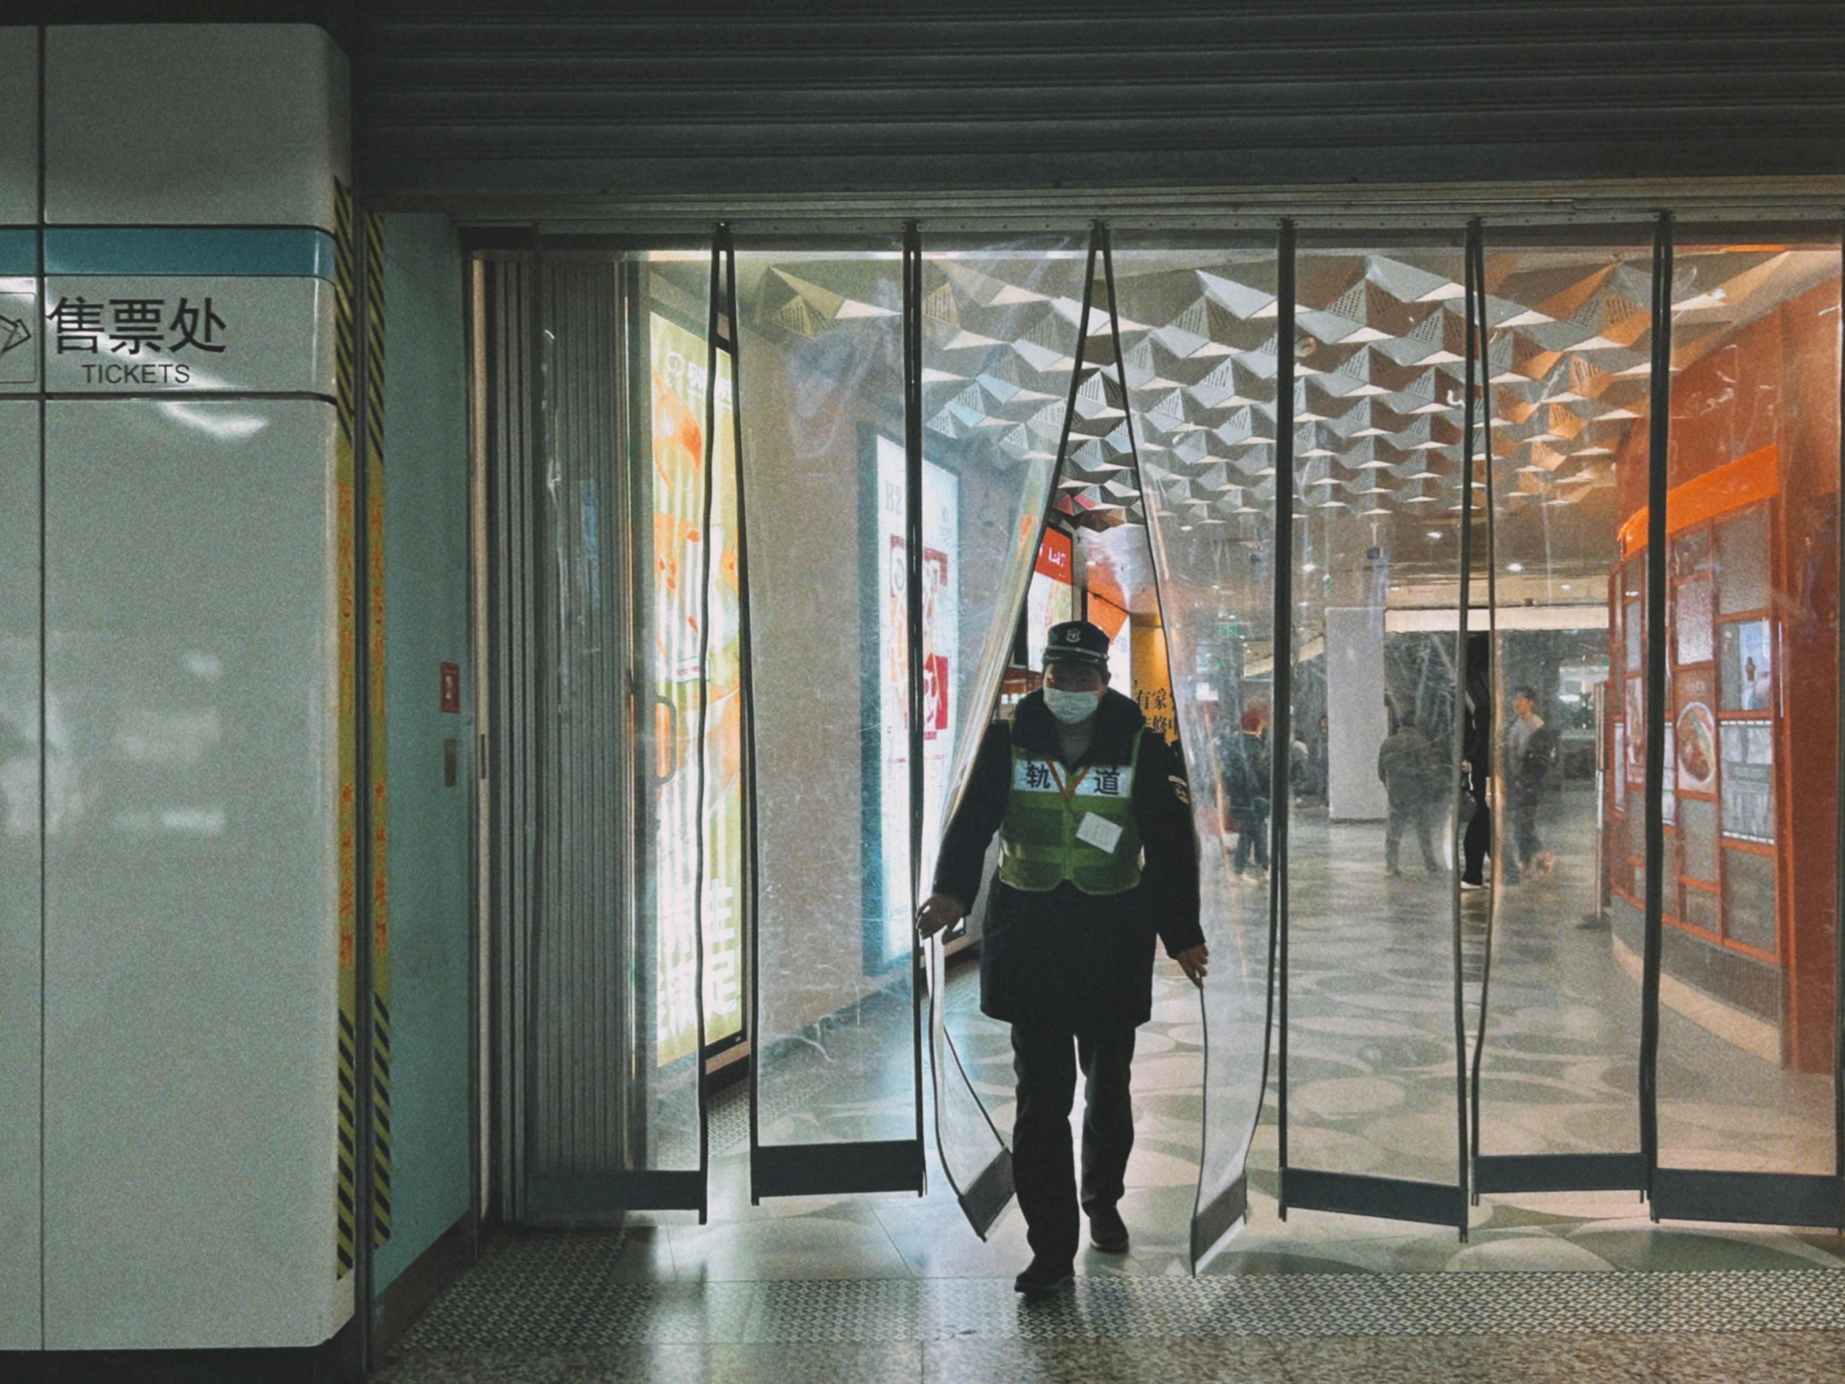
{"type": "Polygon", "coordinates": [[[1044,893],[1070,880],[1083,893],[1125,893],[1140,884],[1135,766],[1068,770],[1013,746],[1013,790],[1000,823],[1000,878],[1044,893]]]}

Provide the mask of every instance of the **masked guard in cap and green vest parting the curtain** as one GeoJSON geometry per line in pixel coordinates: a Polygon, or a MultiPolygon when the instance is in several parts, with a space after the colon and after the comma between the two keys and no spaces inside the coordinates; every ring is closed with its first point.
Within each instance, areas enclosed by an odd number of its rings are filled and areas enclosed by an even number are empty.
{"type": "Polygon", "coordinates": [[[1196,985],[1208,961],[1181,766],[1140,709],[1109,690],[1109,637],[1087,620],[1050,627],[1044,688],[1009,725],[987,727],[917,917],[924,937],[967,915],[994,832],[980,1008],[1013,1026],[1013,1183],[1031,1242],[1013,1286],[1048,1294],[1070,1283],[1077,1251],[1077,1063],[1090,1244],[1125,1253],[1116,1201],[1135,1142],[1129,1067],[1153,1008],[1153,937],[1196,985]]]}

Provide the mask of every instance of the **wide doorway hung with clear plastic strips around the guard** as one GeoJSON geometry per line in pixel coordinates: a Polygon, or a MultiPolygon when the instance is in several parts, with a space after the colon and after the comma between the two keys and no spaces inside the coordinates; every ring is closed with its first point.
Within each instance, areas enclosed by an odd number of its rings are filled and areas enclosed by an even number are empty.
{"type": "Polygon", "coordinates": [[[1251,1198],[1834,1223],[1838,284],[1666,221],[483,255],[504,1214],[710,1214],[742,1126],[751,1201],[993,1227],[908,919],[1055,533],[1231,958],[1188,1262],[1251,1198]]]}

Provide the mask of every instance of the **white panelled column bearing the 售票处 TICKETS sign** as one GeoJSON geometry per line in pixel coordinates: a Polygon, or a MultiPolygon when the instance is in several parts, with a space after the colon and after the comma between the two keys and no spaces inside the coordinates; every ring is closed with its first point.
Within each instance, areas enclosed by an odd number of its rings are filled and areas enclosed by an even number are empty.
{"type": "Polygon", "coordinates": [[[310,26],[52,26],[44,74],[44,1349],[315,1345],[352,1310],[347,65],[310,26]]]}

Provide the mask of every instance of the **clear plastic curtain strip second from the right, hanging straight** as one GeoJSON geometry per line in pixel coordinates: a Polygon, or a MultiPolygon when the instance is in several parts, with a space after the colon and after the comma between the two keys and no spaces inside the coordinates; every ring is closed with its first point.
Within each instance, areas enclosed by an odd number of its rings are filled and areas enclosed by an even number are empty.
{"type": "Polygon", "coordinates": [[[1642,1188],[1644,559],[1622,533],[1648,493],[1653,247],[1511,234],[1476,245],[1474,273],[1494,629],[1469,674],[1496,710],[1467,747],[1493,784],[1467,838],[1491,845],[1493,888],[1461,901],[1489,947],[1474,1187],[1642,1188]]]}

